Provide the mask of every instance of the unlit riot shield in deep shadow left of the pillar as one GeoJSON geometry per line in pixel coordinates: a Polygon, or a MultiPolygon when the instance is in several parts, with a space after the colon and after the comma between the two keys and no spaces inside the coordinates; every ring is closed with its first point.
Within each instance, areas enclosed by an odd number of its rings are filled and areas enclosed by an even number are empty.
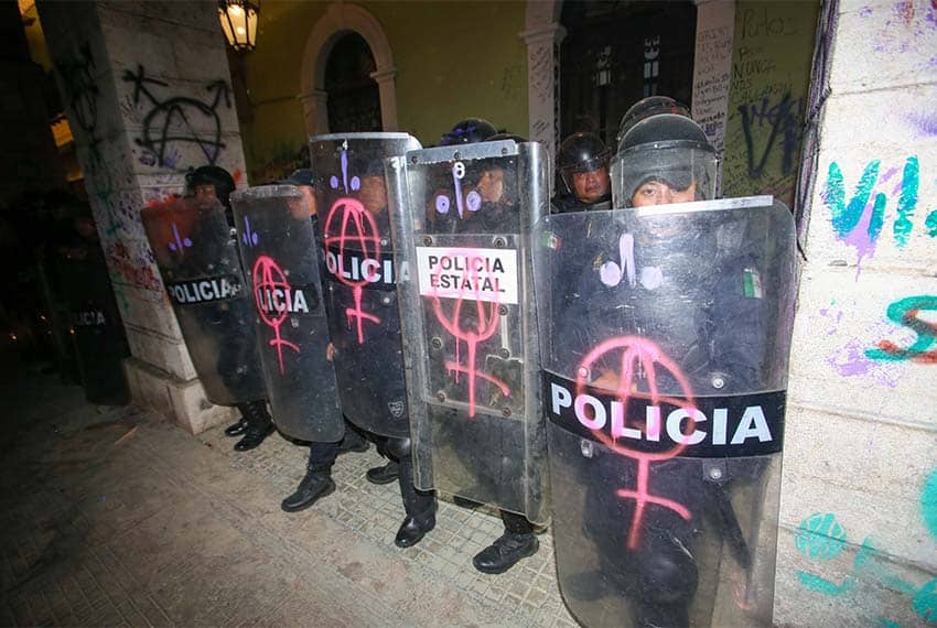
{"type": "Polygon", "coordinates": [[[122,361],[130,350],[100,246],[63,247],[56,266],[85,398],[93,403],[126,403],[122,361]]]}

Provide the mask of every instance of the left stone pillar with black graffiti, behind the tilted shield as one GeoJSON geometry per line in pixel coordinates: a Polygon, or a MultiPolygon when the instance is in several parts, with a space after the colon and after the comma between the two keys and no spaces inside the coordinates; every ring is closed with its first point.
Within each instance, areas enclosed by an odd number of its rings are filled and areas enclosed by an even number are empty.
{"type": "Polygon", "coordinates": [[[140,209],[181,193],[190,167],[213,163],[245,183],[215,4],[41,1],[39,12],[127,328],[133,399],[197,433],[233,412],[205,399],[140,209]]]}

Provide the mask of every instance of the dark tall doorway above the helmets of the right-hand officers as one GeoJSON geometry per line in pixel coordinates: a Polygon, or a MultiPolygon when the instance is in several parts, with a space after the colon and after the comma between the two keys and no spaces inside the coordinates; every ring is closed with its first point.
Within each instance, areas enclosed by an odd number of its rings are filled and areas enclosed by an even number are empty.
{"type": "Polygon", "coordinates": [[[690,106],[697,8],[692,2],[563,2],[560,137],[597,133],[614,147],[618,121],[657,94],[690,106]]]}

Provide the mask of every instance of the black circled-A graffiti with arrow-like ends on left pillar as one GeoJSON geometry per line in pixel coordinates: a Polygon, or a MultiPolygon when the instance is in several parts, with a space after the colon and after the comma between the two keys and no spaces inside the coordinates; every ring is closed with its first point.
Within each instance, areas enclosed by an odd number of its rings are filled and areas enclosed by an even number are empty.
{"type": "Polygon", "coordinates": [[[173,149],[185,145],[197,147],[209,164],[218,161],[225,148],[218,107],[224,102],[227,109],[231,108],[230,87],[225,80],[213,80],[205,86],[211,96],[206,100],[190,96],[157,96],[152,88],[169,87],[169,84],[148,77],[142,65],[137,66],[136,73],[125,71],[123,80],[133,84],[133,105],[149,107],[141,120],[142,134],[136,142],[148,151],[157,165],[179,167],[179,158],[173,156],[173,149]],[[146,101],[141,102],[143,99],[146,101]]]}

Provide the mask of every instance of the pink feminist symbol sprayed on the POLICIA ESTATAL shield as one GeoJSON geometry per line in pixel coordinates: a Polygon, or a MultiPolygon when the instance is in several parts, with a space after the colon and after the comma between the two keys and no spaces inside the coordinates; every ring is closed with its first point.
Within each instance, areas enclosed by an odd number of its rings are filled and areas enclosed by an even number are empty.
{"type": "MultiPolygon", "coordinates": [[[[445,313],[442,311],[442,301],[440,300],[438,288],[433,288],[430,297],[433,301],[433,313],[435,314],[437,320],[445,328],[445,331],[452,334],[452,337],[455,338],[455,360],[448,360],[445,362],[445,368],[450,375],[455,375],[456,383],[459,382],[460,372],[464,372],[468,376],[468,416],[475,416],[476,377],[481,377],[482,379],[497,386],[500,389],[502,394],[505,397],[510,396],[510,389],[499,379],[475,368],[475,353],[478,347],[478,343],[483,343],[494,336],[495,332],[497,332],[498,323],[500,322],[497,292],[494,292],[494,296],[488,296],[491,293],[483,294],[481,290],[482,270],[480,269],[487,269],[484,258],[478,257],[472,249],[451,250],[440,259],[439,267],[434,273],[435,278],[431,284],[433,286],[440,285],[440,275],[442,274],[443,269],[453,266],[452,262],[456,259],[464,259],[465,263],[459,277],[459,289],[454,291],[455,306],[452,310],[452,318],[446,318],[445,313]],[[466,283],[471,286],[467,290],[463,288],[466,283]],[[466,296],[475,302],[474,329],[463,328],[461,326],[463,322],[462,304],[466,296]],[[493,301],[483,301],[483,296],[493,299],[493,301]],[[465,360],[465,365],[462,365],[460,361],[460,340],[464,340],[465,345],[468,347],[468,356],[465,360]]],[[[486,270],[485,272],[496,284],[497,280],[494,279],[491,271],[486,270]]],[[[449,296],[452,292],[453,291],[446,291],[446,296],[449,296]]]]}

